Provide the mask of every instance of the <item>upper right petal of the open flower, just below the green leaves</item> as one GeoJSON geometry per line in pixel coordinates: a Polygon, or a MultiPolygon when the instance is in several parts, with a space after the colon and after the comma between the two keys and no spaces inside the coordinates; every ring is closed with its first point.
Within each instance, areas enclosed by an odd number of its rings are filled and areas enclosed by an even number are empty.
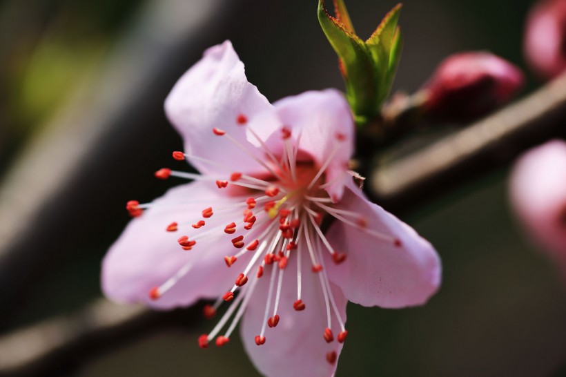
{"type": "MultiPolygon", "coordinates": [[[[275,108],[255,117],[250,128],[266,141],[277,157],[282,155],[282,129],[291,131],[291,144],[299,147],[299,160],[314,160],[318,168],[327,166],[326,191],[340,200],[347,180],[348,161],[353,154],[354,124],[350,107],[338,90],[310,91],[286,97],[275,108]]],[[[260,146],[252,133],[248,139],[260,146]]]]}

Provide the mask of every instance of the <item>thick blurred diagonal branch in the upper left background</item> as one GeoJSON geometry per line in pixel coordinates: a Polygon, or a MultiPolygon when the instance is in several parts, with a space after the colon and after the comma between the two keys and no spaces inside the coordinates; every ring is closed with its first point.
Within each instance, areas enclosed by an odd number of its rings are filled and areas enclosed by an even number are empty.
{"type": "MultiPolygon", "coordinates": [[[[32,281],[41,279],[61,250],[84,253],[92,242],[89,222],[65,240],[54,239],[52,227],[85,218],[112,221],[99,210],[102,203],[124,198],[119,191],[112,196],[109,182],[131,171],[124,162],[144,163],[152,157],[151,151],[124,156],[122,147],[136,145],[163,118],[162,105],[150,106],[151,99],[165,97],[188,66],[186,60],[196,59],[211,44],[217,35],[212,26],[222,25],[231,12],[232,5],[221,3],[146,2],[108,61],[92,72],[12,165],[0,187],[0,284],[10,287],[0,291],[3,320],[17,312],[32,281]],[[103,177],[104,182],[92,185],[103,177]]],[[[137,171],[128,179],[135,182],[139,175],[137,171]]]]}

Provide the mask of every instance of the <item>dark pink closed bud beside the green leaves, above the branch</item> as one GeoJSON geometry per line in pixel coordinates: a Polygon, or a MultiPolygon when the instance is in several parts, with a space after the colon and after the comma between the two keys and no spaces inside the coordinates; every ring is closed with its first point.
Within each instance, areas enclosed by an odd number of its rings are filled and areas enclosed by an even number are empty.
{"type": "Polygon", "coordinates": [[[442,61],[424,84],[427,115],[440,120],[474,119],[498,108],[523,85],[523,73],[489,52],[462,52],[442,61]]]}

